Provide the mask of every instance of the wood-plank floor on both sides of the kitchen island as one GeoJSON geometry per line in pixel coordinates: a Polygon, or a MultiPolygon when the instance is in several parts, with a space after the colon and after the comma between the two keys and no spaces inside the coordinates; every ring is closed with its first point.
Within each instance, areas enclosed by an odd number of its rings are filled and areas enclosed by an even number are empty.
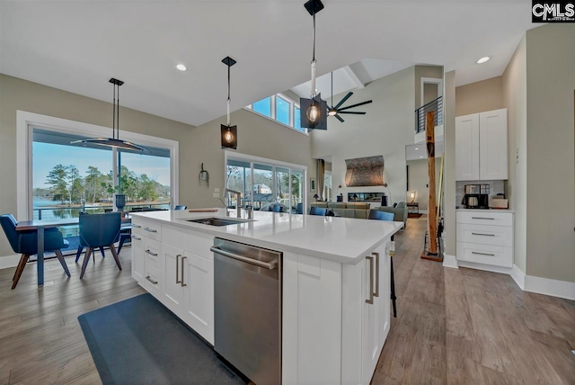
{"type": "MultiPolygon", "coordinates": [[[[575,384],[575,302],[521,291],[504,274],[444,269],[420,259],[426,218],[408,219],[394,256],[398,318],[373,384],[575,384]]],[[[29,264],[15,290],[0,270],[0,385],[100,384],[77,317],[144,291],[112,255],[46,263],[38,289],[29,264]]]]}

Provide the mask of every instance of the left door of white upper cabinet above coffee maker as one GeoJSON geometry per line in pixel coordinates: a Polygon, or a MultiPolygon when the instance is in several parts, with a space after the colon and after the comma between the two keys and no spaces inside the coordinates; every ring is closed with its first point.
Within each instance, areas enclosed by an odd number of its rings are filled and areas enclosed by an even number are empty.
{"type": "Polygon", "coordinates": [[[456,117],[456,181],[479,179],[479,114],[456,117]]]}

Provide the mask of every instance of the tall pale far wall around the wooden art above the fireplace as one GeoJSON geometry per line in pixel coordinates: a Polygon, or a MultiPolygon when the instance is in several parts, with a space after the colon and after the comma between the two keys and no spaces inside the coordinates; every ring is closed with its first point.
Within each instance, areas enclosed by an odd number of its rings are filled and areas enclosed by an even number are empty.
{"type": "Polygon", "coordinates": [[[413,143],[415,124],[414,79],[414,67],[410,67],[354,90],[348,103],[374,101],[357,109],[367,114],[342,115],[343,123],[329,118],[327,131],[312,132],[312,157],[332,156],[334,195],[343,193],[347,201],[348,192],[391,192],[392,201],[405,200],[405,145],[413,143]],[[383,186],[346,187],[345,159],[376,155],[384,156],[389,191],[383,186]]]}

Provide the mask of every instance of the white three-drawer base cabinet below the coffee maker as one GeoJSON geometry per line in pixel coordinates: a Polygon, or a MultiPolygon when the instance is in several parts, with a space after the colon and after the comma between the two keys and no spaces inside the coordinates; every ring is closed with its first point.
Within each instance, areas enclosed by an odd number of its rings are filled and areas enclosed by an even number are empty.
{"type": "Polygon", "coordinates": [[[513,213],[457,211],[457,260],[513,266],[513,213]]]}

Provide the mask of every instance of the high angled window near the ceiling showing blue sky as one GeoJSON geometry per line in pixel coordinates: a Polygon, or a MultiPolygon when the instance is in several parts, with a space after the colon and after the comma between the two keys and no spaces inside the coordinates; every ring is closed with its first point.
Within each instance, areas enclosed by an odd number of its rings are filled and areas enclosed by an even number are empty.
{"type": "Polygon", "coordinates": [[[250,104],[246,108],[299,132],[307,133],[307,130],[301,128],[299,104],[288,96],[275,94],[250,104]]]}

